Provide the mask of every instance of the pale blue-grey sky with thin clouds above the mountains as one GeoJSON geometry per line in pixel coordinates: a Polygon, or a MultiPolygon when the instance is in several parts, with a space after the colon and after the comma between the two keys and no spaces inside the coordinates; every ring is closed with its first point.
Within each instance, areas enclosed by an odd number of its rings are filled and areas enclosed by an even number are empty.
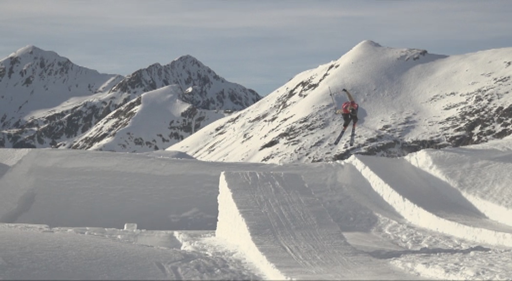
{"type": "Polygon", "coordinates": [[[26,46],[128,75],[192,55],[267,95],[360,41],[454,55],[512,47],[512,1],[0,0],[0,58],[26,46]]]}

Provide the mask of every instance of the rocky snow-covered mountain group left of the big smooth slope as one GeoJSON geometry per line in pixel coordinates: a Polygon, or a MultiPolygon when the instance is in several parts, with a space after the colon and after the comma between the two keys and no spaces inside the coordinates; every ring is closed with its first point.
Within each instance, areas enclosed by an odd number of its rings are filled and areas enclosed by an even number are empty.
{"type": "MultiPolygon", "coordinates": [[[[189,55],[122,77],[34,46],[0,61],[0,89],[0,147],[18,148],[162,149],[261,99],[189,55]],[[138,110],[151,100],[141,97],[158,89],[174,98],[160,99],[158,109],[141,117],[138,110]],[[133,127],[132,118],[147,122],[133,127]]],[[[161,94],[147,96],[155,95],[161,94]]]]}

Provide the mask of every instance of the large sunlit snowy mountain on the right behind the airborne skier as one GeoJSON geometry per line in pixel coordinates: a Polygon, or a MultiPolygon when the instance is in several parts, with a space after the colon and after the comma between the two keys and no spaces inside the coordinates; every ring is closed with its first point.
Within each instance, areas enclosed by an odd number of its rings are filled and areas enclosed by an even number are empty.
{"type": "Polygon", "coordinates": [[[168,149],[206,161],[289,163],[501,139],[512,134],[511,64],[512,48],[445,56],[365,40],[168,149]],[[353,147],[348,136],[333,145],[344,88],[359,103],[353,147]]]}

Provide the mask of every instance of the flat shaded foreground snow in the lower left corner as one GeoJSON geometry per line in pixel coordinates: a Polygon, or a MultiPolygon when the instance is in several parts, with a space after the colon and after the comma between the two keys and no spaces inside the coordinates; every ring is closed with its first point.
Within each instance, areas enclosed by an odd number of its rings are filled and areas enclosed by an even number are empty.
{"type": "Polygon", "coordinates": [[[0,235],[3,279],[257,278],[226,254],[182,250],[174,231],[0,224],[0,235]]]}

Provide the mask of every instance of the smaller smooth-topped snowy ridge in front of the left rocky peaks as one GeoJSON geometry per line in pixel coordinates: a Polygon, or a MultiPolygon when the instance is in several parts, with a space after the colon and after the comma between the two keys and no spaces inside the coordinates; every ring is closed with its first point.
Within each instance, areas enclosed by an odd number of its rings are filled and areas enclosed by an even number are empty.
{"type": "Polygon", "coordinates": [[[150,152],[177,143],[227,115],[223,111],[198,109],[183,102],[181,94],[178,85],[146,92],[73,139],[71,148],[150,152]]]}

